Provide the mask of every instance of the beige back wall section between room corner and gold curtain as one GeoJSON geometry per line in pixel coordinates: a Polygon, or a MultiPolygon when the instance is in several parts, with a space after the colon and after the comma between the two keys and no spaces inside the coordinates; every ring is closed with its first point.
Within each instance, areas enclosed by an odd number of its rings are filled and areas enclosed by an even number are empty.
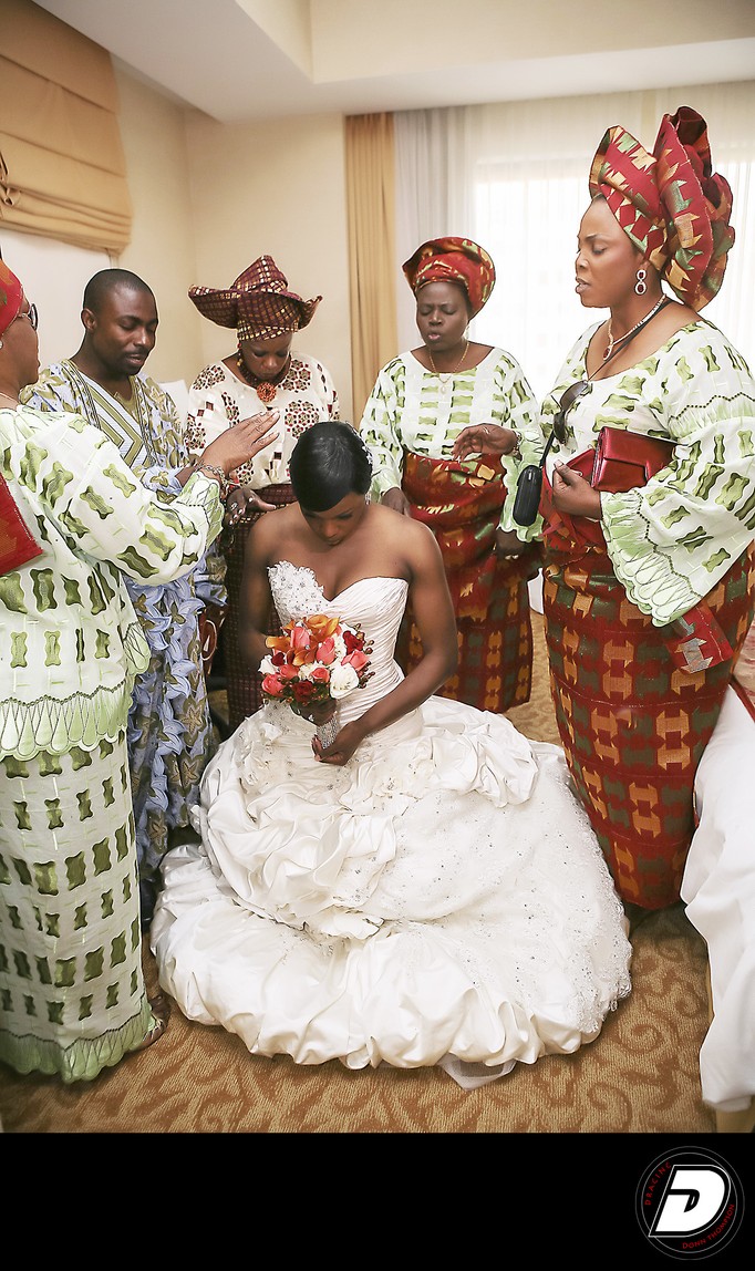
{"type": "MultiPolygon", "coordinates": [[[[323,296],[294,347],[330,371],[351,417],[351,336],[344,123],[339,114],[221,125],[187,114],[200,286],[228,287],[272,255],[292,291],[323,296]]],[[[228,356],[235,333],[197,315],[205,362],[228,356]]],[[[203,365],[203,364],[202,364],[203,365]]],[[[196,366],[194,370],[200,370],[196,366]]]]}

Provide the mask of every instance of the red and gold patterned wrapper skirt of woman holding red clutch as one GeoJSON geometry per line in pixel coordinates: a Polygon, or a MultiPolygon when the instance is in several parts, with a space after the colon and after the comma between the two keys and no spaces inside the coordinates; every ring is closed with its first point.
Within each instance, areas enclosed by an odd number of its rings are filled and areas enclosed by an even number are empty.
{"type": "Polygon", "coordinates": [[[567,763],[619,895],[644,909],[679,900],[694,831],[693,783],[752,616],[745,552],[705,597],[733,656],[679,670],[670,628],[628,599],[605,544],[545,545],[550,688],[567,763]]]}

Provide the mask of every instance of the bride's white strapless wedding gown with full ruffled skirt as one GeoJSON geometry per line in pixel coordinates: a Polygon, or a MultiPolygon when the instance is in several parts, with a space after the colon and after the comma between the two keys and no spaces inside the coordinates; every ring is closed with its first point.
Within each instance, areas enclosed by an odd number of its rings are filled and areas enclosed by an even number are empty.
{"type": "MultiPolygon", "coordinates": [[[[341,723],[400,680],[404,581],[329,601],[309,569],[269,578],[282,622],[336,614],[374,642],[341,723]]],[[[202,843],[164,860],[151,943],[183,1013],[257,1055],[442,1064],[466,1087],[597,1037],[632,951],[562,751],[435,697],[343,768],[313,731],[282,703],[250,716],[202,779],[202,843]]]]}

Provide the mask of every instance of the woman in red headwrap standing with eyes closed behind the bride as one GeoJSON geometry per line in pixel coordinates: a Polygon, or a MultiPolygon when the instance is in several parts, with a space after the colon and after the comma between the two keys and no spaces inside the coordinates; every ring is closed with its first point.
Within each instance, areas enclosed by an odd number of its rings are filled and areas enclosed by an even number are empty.
{"type": "MultiPolygon", "coordinates": [[[[527,580],[539,567],[502,520],[517,437],[536,421],[521,367],[478,344],[469,322],[493,290],[491,257],[470,239],[423,243],[403,267],[417,299],[422,344],[380,371],[360,432],[375,458],[374,496],[425,521],[444,555],[456,614],[459,667],[440,690],[480,710],[529,700],[533,630],[527,580]]],[[[411,670],[422,642],[411,609],[398,658],[411,670]]]]}

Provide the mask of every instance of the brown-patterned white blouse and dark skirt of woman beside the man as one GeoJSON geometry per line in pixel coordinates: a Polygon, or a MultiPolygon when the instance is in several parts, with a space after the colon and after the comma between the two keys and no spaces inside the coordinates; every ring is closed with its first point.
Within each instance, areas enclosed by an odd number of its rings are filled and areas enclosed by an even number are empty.
{"type": "MultiPolygon", "coordinates": [[[[236,469],[236,477],[244,486],[257,491],[266,503],[275,503],[277,507],[294,498],[289,484],[289,460],[296,441],[313,423],[338,419],[339,403],[327,367],[306,353],[292,353],[286,375],[276,384],[271,405],[281,414],[275,430],[278,436],[271,446],[254,455],[250,463],[241,464],[236,469]]],[[[254,388],[239,380],[224,362],[212,362],[200,371],[189,389],[186,427],[189,451],[201,454],[225,428],[259,414],[262,409],[254,388]]],[[[231,731],[262,705],[257,667],[241,658],[238,646],[244,545],[258,515],[250,512],[243,516],[235,526],[224,530],[220,540],[221,604],[226,606],[220,642],[231,731]]],[[[271,613],[268,634],[278,634],[275,613],[271,613]]]]}

